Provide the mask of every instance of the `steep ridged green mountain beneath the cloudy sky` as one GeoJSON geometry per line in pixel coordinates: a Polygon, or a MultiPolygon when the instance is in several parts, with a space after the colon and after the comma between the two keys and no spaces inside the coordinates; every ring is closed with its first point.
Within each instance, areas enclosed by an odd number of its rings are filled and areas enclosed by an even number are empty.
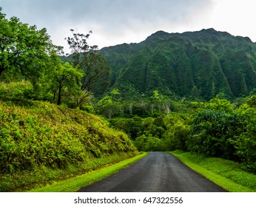
{"type": "Polygon", "coordinates": [[[124,98],[164,95],[209,100],[238,98],[256,90],[256,44],[214,29],[158,31],[138,44],[101,49],[112,67],[110,89],[124,98]]]}

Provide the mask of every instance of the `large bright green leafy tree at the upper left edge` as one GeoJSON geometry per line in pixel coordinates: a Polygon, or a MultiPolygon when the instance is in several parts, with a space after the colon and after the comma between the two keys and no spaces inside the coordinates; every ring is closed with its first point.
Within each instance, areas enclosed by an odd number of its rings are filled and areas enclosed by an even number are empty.
{"type": "Polygon", "coordinates": [[[47,68],[55,47],[45,28],[23,24],[18,18],[5,18],[0,10],[0,75],[18,72],[35,86],[47,68]]]}

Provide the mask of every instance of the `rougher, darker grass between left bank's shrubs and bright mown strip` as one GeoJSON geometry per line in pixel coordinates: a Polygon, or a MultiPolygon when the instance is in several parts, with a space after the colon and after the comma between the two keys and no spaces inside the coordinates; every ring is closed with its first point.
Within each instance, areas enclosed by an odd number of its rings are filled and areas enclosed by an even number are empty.
{"type": "Polygon", "coordinates": [[[66,169],[37,167],[33,170],[24,170],[13,174],[0,174],[0,192],[30,191],[51,185],[60,180],[67,180],[93,170],[110,166],[138,155],[138,153],[123,152],[109,156],[95,158],[88,157],[87,162],[80,166],[67,166],[66,169]]]}

